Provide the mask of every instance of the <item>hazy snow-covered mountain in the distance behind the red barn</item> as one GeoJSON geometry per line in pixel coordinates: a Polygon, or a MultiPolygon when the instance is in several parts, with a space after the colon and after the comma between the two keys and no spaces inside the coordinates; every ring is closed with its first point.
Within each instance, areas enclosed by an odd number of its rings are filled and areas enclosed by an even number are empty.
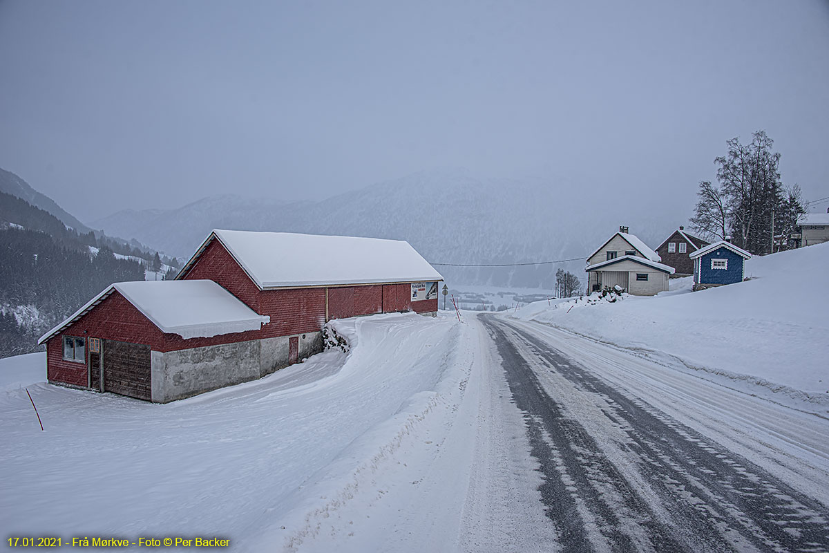
{"type": "MultiPolygon", "coordinates": [[[[683,223],[638,198],[590,198],[566,182],[439,170],[319,201],[211,196],[177,209],[119,211],[90,225],[184,259],[212,229],[227,228],[407,240],[432,263],[510,264],[584,257],[619,225],[656,246],[683,223]]],[[[550,288],[559,266],[581,274],[584,261],[438,269],[450,283],[550,288]]]]}

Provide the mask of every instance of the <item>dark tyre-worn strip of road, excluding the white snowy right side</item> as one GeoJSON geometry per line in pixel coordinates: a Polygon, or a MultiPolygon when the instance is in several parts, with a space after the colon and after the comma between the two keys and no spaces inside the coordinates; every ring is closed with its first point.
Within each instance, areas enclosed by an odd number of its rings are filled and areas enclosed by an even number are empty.
{"type": "Polygon", "coordinates": [[[536,337],[492,317],[482,322],[528,414],[532,454],[545,474],[542,499],[565,551],[829,547],[819,503],[536,337]],[[583,407],[574,402],[585,401],[600,409],[594,420],[574,418],[583,407]]]}

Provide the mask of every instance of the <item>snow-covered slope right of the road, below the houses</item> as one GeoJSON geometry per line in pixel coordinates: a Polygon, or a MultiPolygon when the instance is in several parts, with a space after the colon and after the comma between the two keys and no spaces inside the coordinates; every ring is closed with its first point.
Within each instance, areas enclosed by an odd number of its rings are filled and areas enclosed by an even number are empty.
{"type": "Polygon", "coordinates": [[[746,262],[750,280],[615,303],[536,302],[512,316],[547,323],[811,410],[829,410],[829,243],[746,262]]]}

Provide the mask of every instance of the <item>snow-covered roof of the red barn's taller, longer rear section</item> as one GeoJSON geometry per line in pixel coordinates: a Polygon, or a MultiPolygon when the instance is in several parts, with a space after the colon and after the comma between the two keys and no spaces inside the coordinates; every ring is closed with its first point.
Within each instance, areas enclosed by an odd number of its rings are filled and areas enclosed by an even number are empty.
{"type": "Polygon", "coordinates": [[[404,240],[249,230],[213,230],[179,278],[214,238],[259,289],[444,279],[404,240]]]}

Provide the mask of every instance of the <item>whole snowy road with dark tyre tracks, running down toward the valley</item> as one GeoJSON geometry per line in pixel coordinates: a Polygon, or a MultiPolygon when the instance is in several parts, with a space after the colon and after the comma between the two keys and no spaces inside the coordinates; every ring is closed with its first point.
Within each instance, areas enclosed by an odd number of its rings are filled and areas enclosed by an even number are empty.
{"type": "Polygon", "coordinates": [[[826,419],[552,327],[480,320],[562,551],[829,549],[826,419]]]}

